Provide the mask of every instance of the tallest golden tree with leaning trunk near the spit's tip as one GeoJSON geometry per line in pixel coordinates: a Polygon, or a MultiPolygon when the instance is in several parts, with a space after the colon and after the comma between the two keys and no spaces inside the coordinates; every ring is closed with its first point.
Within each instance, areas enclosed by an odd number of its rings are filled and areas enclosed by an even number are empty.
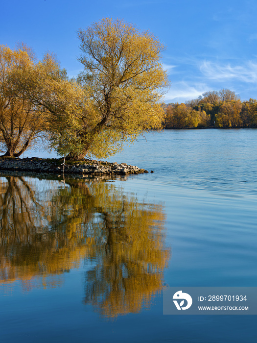
{"type": "Polygon", "coordinates": [[[160,100],[168,85],[160,62],[164,46],[149,32],[108,18],[80,29],[78,37],[86,106],[62,117],[67,129],[57,135],[57,150],[65,153],[62,142],[73,137],[73,149],[66,146],[71,157],[107,157],[123,142],[161,127],[160,100]]]}

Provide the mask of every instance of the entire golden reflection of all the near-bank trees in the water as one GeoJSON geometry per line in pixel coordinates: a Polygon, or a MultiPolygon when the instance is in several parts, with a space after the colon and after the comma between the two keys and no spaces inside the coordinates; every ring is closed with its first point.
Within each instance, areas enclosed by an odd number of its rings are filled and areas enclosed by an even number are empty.
{"type": "Polygon", "coordinates": [[[2,175],[0,282],[56,287],[86,261],[85,304],[108,317],[149,306],[170,255],[164,205],[106,181],[2,175]]]}

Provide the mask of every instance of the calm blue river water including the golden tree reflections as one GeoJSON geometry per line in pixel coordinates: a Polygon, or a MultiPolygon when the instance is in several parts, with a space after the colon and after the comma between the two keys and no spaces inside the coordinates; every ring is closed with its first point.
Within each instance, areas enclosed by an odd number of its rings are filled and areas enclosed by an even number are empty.
{"type": "Polygon", "coordinates": [[[0,174],[0,342],[257,342],[256,316],[162,313],[164,285],[257,286],[257,130],[146,139],[110,160],[154,173],[0,174]]]}

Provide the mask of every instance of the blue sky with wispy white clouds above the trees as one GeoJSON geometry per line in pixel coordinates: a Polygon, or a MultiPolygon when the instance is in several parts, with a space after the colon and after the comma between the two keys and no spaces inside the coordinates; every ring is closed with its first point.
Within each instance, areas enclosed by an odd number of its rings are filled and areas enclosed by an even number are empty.
{"type": "Polygon", "coordinates": [[[0,44],[23,41],[41,58],[55,52],[70,76],[81,69],[76,31],[103,17],[153,32],[166,46],[165,102],[229,88],[257,98],[256,0],[4,0],[0,44]]]}

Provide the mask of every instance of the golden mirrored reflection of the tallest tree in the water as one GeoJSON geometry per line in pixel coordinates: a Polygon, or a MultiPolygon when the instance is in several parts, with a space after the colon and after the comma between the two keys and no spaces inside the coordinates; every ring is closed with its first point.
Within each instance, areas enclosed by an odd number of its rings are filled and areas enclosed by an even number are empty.
{"type": "Polygon", "coordinates": [[[85,303],[108,317],[149,306],[162,288],[169,257],[163,219],[159,205],[130,199],[120,201],[115,211],[102,211],[97,265],[86,273],[85,303]]]}

